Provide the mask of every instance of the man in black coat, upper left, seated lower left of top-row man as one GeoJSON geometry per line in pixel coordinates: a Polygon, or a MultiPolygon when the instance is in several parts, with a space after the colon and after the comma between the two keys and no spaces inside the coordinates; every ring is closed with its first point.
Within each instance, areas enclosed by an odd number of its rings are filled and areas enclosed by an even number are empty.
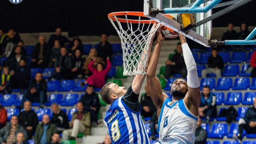
{"type": "Polygon", "coordinates": [[[32,62],[30,67],[47,67],[49,63],[50,49],[46,44],[44,36],[39,36],[39,43],[37,43],[32,52],[32,62]]]}

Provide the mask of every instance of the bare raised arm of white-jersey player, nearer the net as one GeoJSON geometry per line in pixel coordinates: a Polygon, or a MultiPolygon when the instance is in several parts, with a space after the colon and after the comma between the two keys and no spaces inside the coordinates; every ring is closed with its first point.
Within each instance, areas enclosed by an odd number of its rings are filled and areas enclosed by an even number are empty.
{"type": "Polygon", "coordinates": [[[156,76],[160,49],[161,49],[162,41],[165,39],[165,37],[161,34],[161,27],[157,31],[157,42],[154,47],[153,54],[150,58],[148,71],[147,71],[148,92],[155,106],[157,107],[158,117],[162,108],[163,101],[166,98],[168,98],[168,96],[162,92],[160,81],[156,76]]]}

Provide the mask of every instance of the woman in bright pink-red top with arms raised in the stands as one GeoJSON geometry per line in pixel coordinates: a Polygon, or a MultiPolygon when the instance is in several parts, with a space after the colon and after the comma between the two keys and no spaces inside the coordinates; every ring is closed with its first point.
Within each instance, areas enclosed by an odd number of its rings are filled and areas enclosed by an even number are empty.
{"type": "Polygon", "coordinates": [[[89,78],[84,81],[84,84],[89,84],[95,88],[102,88],[105,85],[106,76],[111,68],[111,62],[109,57],[107,57],[107,66],[104,69],[104,64],[99,62],[96,65],[96,68],[93,67],[94,60],[89,63],[88,68],[93,73],[89,78]]]}

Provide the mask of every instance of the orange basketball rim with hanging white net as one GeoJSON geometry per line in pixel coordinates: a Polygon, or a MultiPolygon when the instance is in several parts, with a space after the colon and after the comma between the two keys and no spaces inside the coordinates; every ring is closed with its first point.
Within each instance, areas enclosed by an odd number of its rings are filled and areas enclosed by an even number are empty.
{"type": "Polygon", "coordinates": [[[108,18],[121,39],[123,75],[145,75],[149,44],[160,24],[146,18],[143,12],[113,12],[108,18]],[[152,29],[153,25],[157,28],[152,29]]]}

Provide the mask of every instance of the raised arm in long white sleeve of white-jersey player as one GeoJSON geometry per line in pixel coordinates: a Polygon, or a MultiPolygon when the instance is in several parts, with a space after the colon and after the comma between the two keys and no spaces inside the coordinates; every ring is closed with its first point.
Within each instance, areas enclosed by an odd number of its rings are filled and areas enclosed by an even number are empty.
{"type": "Polygon", "coordinates": [[[188,92],[184,98],[184,102],[188,109],[196,116],[198,116],[198,107],[201,101],[200,82],[197,74],[196,62],[193,58],[192,52],[189,49],[185,36],[180,34],[181,47],[184,61],[187,67],[187,86],[188,92]]]}

